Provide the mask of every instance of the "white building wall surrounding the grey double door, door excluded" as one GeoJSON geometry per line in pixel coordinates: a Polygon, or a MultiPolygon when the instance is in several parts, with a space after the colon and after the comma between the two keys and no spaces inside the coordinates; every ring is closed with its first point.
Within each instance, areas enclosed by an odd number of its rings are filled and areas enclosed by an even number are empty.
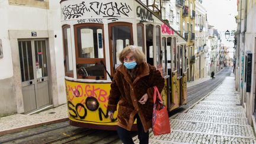
{"type": "Polygon", "coordinates": [[[0,1],[0,39],[4,57],[0,58],[0,117],[23,113],[18,39],[46,38],[49,43],[50,95],[54,107],[66,103],[63,66],[62,27],[59,1],[50,1],[49,9],[9,5],[0,1]],[[37,37],[31,37],[31,31],[37,37]],[[2,69],[4,68],[4,69],[2,69]]]}

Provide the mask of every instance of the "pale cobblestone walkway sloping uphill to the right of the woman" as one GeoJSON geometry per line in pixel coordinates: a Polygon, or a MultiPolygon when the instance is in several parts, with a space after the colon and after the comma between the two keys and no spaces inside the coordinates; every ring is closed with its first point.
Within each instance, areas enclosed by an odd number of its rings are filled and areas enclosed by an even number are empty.
{"type": "MultiPolygon", "coordinates": [[[[226,77],[187,113],[170,119],[170,134],[154,136],[151,131],[149,143],[256,143],[234,87],[233,75],[226,77]]],[[[133,139],[139,143],[137,136],[133,139]]]]}

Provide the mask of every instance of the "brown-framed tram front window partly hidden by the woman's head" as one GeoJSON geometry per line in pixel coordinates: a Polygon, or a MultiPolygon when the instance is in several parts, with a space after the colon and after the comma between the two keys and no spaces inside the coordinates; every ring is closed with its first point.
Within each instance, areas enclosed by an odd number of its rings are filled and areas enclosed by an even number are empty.
{"type": "Polygon", "coordinates": [[[108,25],[110,39],[110,62],[111,75],[114,70],[121,64],[119,61],[119,53],[124,47],[133,44],[132,24],[130,23],[111,23],[108,25]]]}

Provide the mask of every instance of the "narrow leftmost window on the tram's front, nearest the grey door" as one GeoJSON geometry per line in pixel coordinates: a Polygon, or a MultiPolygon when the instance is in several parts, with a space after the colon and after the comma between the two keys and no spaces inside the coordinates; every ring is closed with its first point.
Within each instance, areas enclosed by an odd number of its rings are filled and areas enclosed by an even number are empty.
{"type": "Polygon", "coordinates": [[[65,75],[73,77],[73,59],[72,59],[72,46],[71,46],[71,28],[69,25],[63,27],[64,39],[64,63],[65,75]]]}

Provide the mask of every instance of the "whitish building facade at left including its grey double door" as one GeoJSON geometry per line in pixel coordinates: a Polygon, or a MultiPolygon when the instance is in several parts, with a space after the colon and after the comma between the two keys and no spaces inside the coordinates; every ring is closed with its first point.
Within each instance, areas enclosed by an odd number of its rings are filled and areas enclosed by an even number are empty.
{"type": "Polygon", "coordinates": [[[0,13],[0,117],[66,103],[59,1],[1,1],[0,13]]]}

